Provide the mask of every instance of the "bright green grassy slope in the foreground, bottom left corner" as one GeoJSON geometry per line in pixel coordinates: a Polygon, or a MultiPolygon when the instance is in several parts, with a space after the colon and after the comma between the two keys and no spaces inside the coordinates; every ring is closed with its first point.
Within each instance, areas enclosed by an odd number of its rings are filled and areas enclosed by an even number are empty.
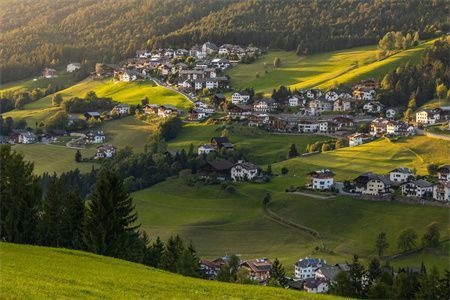
{"type": "Polygon", "coordinates": [[[0,243],[0,253],[2,299],[335,298],[277,288],[188,278],[119,259],[74,250],[0,243]]]}

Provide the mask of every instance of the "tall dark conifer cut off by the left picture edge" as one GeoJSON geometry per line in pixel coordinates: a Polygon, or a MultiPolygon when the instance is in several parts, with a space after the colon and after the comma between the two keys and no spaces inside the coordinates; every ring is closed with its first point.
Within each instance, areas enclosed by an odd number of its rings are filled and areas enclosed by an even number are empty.
{"type": "Polygon", "coordinates": [[[36,240],[38,206],[42,196],[33,163],[9,145],[0,148],[0,238],[12,243],[36,240]]]}

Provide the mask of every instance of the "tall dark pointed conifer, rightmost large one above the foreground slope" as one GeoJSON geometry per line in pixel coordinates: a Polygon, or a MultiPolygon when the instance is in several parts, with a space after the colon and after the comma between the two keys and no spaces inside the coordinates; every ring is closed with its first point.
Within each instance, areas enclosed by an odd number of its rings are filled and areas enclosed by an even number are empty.
{"type": "Polygon", "coordinates": [[[123,181],[111,170],[98,175],[89,199],[84,225],[84,242],[89,251],[101,255],[129,259],[139,237],[140,225],[134,225],[137,215],[133,199],[123,181]]]}

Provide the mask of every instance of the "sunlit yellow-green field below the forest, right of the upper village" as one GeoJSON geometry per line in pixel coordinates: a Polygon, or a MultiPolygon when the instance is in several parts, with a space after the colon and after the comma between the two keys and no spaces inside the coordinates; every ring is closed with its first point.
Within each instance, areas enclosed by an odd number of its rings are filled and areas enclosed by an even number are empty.
{"type": "Polygon", "coordinates": [[[234,89],[253,87],[264,93],[271,93],[272,89],[280,85],[291,89],[329,89],[336,83],[347,84],[365,78],[380,78],[400,64],[417,62],[423,50],[431,44],[432,41],[429,41],[380,61],[377,61],[378,50],[375,45],[306,57],[300,57],[294,52],[269,51],[254,63],[232,68],[228,75],[231,76],[234,89]],[[278,68],[273,67],[276,57],[281,60],[278,68]]]}

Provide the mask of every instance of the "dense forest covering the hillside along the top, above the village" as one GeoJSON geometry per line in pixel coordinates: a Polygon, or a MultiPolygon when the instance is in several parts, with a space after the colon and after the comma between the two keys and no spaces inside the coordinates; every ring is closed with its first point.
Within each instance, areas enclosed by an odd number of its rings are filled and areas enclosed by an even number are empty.
{"type": "Polygon", "coordinates": [[[448,30],[445,0],[11,0],[0,2],[1,82],[139,48],[254,44],[299,54],[374,44],[386,32],[448,30]]]}

